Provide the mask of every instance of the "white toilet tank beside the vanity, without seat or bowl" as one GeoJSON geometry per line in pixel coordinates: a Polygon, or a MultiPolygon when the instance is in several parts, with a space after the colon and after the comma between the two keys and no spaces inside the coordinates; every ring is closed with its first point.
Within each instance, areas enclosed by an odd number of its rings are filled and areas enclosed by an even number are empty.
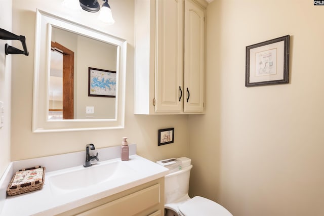
{"type": "Polygon", "coordinates": [[[190,170],[192,168],[191,159],[186,157],[177,159],[182,161],[182,168],[165,177],[165,204],[190,199],[188,191],[190,170]]]}

